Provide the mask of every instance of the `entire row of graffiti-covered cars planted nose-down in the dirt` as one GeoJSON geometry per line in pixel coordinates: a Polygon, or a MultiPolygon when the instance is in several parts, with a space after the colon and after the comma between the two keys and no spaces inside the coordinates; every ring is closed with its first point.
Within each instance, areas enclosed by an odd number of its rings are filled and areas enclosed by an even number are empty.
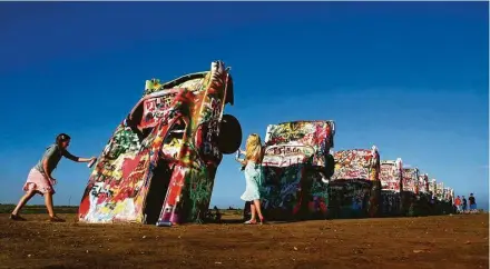
{"type": "MultiPolygon", "coordinates": [[[[238,120],[224,113],[234,104],[229,70],[214,61],[208,71],[146,81],[97,159],[80,222],[206,221],[223,156],[243,139],[238,120]]],[[[267,127],[261,192],[268,220],[429,215],[450,203],[451,189],[400,159],[381,161],[375,147],[332,155],[334,137],[330,120],[267,127]]]]}

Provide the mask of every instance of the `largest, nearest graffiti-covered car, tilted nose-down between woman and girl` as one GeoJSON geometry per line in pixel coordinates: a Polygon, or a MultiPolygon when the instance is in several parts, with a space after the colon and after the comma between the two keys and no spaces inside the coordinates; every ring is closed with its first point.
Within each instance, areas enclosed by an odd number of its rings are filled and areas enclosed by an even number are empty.
{"type": "Polygon", "coordinates": [[[209,71],[146,81],[90,175],[81,222],[204,220],[223,155],[242,142],[236,118],[223,114],[234,103],[228,71],[215,61],[209,71]]]}

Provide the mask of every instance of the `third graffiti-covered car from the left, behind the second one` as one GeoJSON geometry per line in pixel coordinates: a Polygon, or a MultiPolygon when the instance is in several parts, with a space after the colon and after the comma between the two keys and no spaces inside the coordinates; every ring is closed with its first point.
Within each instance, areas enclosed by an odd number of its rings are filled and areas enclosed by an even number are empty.
{"type": "Polygon", "coordinates": [[[381,211],[378,148],[340,150],[334,159],[335,172],[329,186],[331,217],[378,217],[381,211]]]}

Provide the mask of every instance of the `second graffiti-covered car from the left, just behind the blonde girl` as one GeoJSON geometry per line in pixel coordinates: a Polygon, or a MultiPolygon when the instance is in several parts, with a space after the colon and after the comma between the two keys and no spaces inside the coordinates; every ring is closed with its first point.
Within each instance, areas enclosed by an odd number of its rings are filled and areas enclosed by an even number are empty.
{"type": "MultiPolygon", "coordinates": [[[[326,181],[334,169],[332,120],[270,124],[264,139],[261,190],[268,220],[321,218],[326,215],[326,181]]],[[[247,203],[244,218],[247,218],[247,203]]]]}

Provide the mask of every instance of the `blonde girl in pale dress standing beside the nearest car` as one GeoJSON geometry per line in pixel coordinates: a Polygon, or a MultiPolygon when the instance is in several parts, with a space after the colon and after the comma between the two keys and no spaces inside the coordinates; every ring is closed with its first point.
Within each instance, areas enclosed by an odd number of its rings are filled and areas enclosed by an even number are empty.
{"type": "MultiPolygon", "coordinates": [[[[238,153],[244,152],[238,149],[238,153]]],[[[255,213],[258,215],[261,225],[264,222],[264,217],[261,210],[261,192],[259,188],[263,181],[262,171],[262,158],[263,148],[261,142],[261,137],[256,133],[248,136],[246,148],[245,148],[245,159],[237,160],[242,163],[243,170],[245,172],[245,192],[242,195],[241,199],[251,202],[252,217],[249,220],[245,221],[245,225],[256,225],[257,220],[255,213]]]]}

